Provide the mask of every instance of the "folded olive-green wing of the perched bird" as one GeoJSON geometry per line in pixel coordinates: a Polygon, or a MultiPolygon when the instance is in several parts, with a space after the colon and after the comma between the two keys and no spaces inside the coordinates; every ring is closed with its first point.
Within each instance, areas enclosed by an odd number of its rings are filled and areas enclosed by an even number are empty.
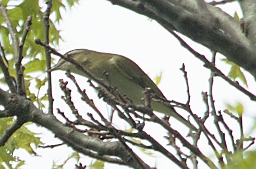
{"type": "Polygon", "coordinates": [[[114,57],[113,59],[114,59],[113,65],[124,76],[126,76],[127,78],[133,81],[136,81],[143,88],[151,88],[153,92],[164,97],[160,89],[155,85],[155,83],[150,79],[150,77],[142,71],[142,69],[135,62],[120,55],[116,55],[116,57],[114,57]]]}

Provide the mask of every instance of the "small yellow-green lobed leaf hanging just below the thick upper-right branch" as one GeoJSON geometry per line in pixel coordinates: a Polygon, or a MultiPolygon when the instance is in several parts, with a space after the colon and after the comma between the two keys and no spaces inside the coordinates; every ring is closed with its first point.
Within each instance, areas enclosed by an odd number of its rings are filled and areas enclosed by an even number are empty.
{"type": "Polygon", "coordinates": [[[246,87],[248,87],[246,77],[242,73],[241,68],[238,65],[236,65],[235,63],[228,61],[227,59],[222,59],[222,61],[226,62],[227,64],[229,64],[231,66],[231,69],[228,73],[228,77],[230,77],[234,81],[236,79],[240,79],[243,82],[243,84],[245,84],[246,87]]]}

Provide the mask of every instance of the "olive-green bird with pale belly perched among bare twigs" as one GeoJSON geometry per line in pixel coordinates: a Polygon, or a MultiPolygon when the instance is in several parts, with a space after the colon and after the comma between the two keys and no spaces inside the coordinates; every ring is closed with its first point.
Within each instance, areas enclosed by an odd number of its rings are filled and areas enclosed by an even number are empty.
{"type": "MultiPolygon", "coordinates": [[[[64,54],[81,64],[91,74],[97,78],[101,78],[106,82],[111,82],[113,87],[116,87],[121,95],[127,95],[132,103],[139,105],[143,104],[143,91],[145,88],[150,88],[154,93],[161,97],[165,96],[150,77],[145,74],[142,69],[130,59],[118,54],[101,53],[87,49],[75,49],[64,54]],[[106,72],[108,76],[103,74],[106,72]]],[[[51,71],[69,69],[71,73],[75,73],[84,77],[88,77],[82,71],[76,68],[74,64],[60,59],[58,63],[52,67],[51,71]]],[[[152,109],[157,112],[162,112],[167,116],[172,116],[178,121],[184,123],[191,130],[197,130],[194,125],[187,121],[184,117],[177,114],[174,108],[164,105],[160,102],[151,103],[152,109]]]]}

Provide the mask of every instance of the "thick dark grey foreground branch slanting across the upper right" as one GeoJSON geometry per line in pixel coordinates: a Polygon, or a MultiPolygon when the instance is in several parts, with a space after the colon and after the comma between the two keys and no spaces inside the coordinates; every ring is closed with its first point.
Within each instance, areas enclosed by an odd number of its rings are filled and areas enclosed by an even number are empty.
{"type": "MultiPolygon", "coordinates": [[[[155,19],[168,30],[175,28],[176,31],[197,43],[222,53],[228,60],[245,68],[256,79],[256,53],[253,47],[249,45],[250,43],[241,33],[237,35],[237,31],[236,34],[223,32],[221,24],[224,25],[224,23],[222,21],[220,24],[219,18],[214,18],[214,22],[211,23],[200,13],[191,13],[165,0],[145,0],[141,2],[128,0],[108,1],[155,19]]],[[[234,19],[232,22],[239,25],[239,22],[234,21],[234,19]]],[[[240,30],[239,26],[236,28],[236,30],[240,30]]]]}

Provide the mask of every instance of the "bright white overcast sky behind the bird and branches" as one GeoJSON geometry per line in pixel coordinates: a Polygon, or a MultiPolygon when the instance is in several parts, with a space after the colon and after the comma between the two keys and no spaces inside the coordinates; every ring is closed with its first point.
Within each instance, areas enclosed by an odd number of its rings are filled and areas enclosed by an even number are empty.
{"type": "MultiPolygon", "coordinates": [[[[233,15],[235,9],[238,10],[237,12],[241,16],[238,5],[228,4],[225,10],[230,15],[233,15]]],[[[209,71],[203,67],[202,62],[182,48],[178,41],[155,21],[151,21],[147,17],[140,16],[119,6],[113,6],[105,0],[81,1],[80,5],[76,5],[71,11],[64,13],[63,19],[63,22],[60,22],[59,28],[62,30],[61,35],[65,41],[59,45],[60,52],[65,53],[73,49],[87,48],[125,55],[136,62],[152,79],[162,71],[163,76],[159,88],[170,100],[185,102],[187,99],[185,80],[182,72],[179,70],[182,63],[185,63],[191,89],[192,110],[197,112],[199,116],[203,115],[205,106],[202,102],[201,92],[208,91],[209,71]]],[[[193,43],[187,38],[186,41],[199,53],[204,54],[207,58],[211,58],[211,53],[208,49],[193,43]]],[[[223,72],[227,74],[228,68],[219,61],[221,58],[218,55],[217,66],[221,67],[223,72]]],[[[58,79],[64,78],[67,80],[67,78],[64,72],[60,71],[53,73],[53,75],[54,106],[55,108],[60,107],[64,111],[64,102],[59,98],[62,92],[58,89],[58,79]]],[[[248,73],[246,75],[249,90],[256,93],[255,87],[253,88],[255,86],[253,78],[248,73]]],[[[95,98],[94,102],[99,103],[96,101],[95,93],[87,87],[86,79],[79,76],[76,77],[78,77],[77,80],[82,84],[81,86],[88,90],[92,98],[95,98]]],[[[70,88],[72,88],[71,82],[69,83],[70,88]]],[[[76,95],[74,86],[73,89],[74,95],[76,95]]],[[[248,122],[245,125],[251,122],[251,117],[255,117],[253,107],[256,104],[252,103],[248,97],[243,96],[233,87],[230,87],[226,82],[223,82],[222,79],[215,79],[214,98],[217,110],[225,109],[225,103],[235,104],[236,102],[241,102],[245,106],[245,120],[248,122]]],[[[79,109],[85,111],[85,114],[89,111],[84,109],[82,102],[77,104],[77,106],[80,106],[79,109]]],[[[104,105],[102,110],[106,110],[104,105]]],[[[116,122],[116,125],[118,128],[126,128],[124,124],[119,124],[118,122],[116,122]]],[[[163,140],[162,137],[166,133],[165,131],[156,131],[157,128],[154,126],[147,126],[146,129],[151,130],[152,135],[159,134],[160,140],[163,140]]],[[[250,126],[245,126],[245,129],[250,129],[250,126]]],[[[53,144],[54,135],[45,132],[43,129],[36,130],[43,132],[43,142],[53,144]]],[[[186,133],[186,131],[182,132],[186,133]]],[[[206,148],[203,152],[211,152],[207,149],[209,148],[206,148]]],[[[27,160],[27,164],[22,168],[51,168],[53,160],[62,162],[72,151],[70,148],[62,146],[55,149],[39,149],[36,152],[42,157],[30,157],[27,153],[18,151],[18,154],[22,154],[23,159],[27,160]]],[[[165,168],[166,159],[160,158],[159,154],[155,157],[157,160],[147,157],[150,165],[156,165],[157,168],[165,168]]],[[[91,159],[84,157],[83,160],[86,160],[87,164],[89,164],[88,161],[91,159]]],[[[167,162],[167,165],[175,166],[172,162],[167,162]]],[[[65,168],[74,168],[74,161],[69,162],[65,168]]],[[[121,167],[108,165],[106,168],[121,167]]]]}

